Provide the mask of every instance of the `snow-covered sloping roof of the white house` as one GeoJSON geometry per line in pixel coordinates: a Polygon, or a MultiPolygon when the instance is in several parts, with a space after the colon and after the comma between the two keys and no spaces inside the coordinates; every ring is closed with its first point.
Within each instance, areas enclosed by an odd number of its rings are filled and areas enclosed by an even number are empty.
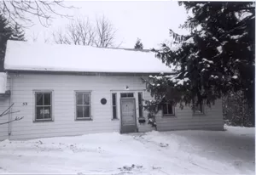
{"type": "Polygon", "coordinates": [[[171,73],[153,52],[8,41],[6,71],[171,73]]]}

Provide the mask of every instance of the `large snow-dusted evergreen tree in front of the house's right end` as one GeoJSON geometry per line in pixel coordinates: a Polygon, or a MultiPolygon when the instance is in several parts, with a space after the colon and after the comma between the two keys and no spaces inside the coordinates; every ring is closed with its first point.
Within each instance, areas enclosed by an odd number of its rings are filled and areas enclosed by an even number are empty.
{"type": "MultiPolygon", "coordinates": [[[[146,109],[160,110],[164,100],[183,104],[214,104],[230,93],[242,92],[254,106],[255,3],[179,2],[192,16],[181,25],[187,36],[170,30],[172,47],[162,44],[157,57],[174,67],[172,75],[149,76],[154,101],[146,109]]],[[[194,107],[194,105],[192,105],[194,107]]]]}

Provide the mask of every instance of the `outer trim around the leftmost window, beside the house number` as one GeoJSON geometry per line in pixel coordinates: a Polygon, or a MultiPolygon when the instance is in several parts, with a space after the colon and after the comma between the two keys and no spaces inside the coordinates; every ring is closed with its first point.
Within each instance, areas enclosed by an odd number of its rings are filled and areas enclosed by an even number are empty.
{"type": "Polygon", "coordinates": [[[32,115],[33,115],[33,122],[47,122],[47,121],[54,121],[54,90],[49,90],[49,89],[35,89],[35,90],[32,90],[32,106],[33,106],[33,112],[32,112],[32,115]],[[51,111],[50,111],[50,119],[37,119],[37,110],[36,110],[36,93],[51,93],[51,99],[50,99],[50,103],[51,103],[51,111]]]}

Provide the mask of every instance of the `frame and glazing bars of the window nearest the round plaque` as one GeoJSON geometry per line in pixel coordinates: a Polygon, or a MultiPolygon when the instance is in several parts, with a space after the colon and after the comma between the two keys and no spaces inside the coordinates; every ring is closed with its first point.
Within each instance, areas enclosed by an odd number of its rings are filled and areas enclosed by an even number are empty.
{"type": "MultiPolygon", "coordinates": [[[[75,91],[75,94],[74,94],[74,96],[75,96],[75,98],[74,98],[74,100],[75,100],[75,106],[74,106],[74,110],[75,110],[75,121],[91,121],[92,120],[92,110],[91,110],[91,92],[90,91],[75,91]],[[89,102],[90,102],[90,104],[77,104],[77,94],[78,93],[87,93],[87,94],[89,94],[89,97],[90,97],[90,99],[89,99],[89,102]],[[90,117],[84,117],[84,115],[83,115],[83,117],[78,117],[78,111],[77,111],[77,107],[78,107],[78,105],[79,106],[89,106],[89,112],[90,112],[90,117]]],[[[83,101],[83,103],[84,103],[84,101],[83,101]]],[[[83,111],[83,114],[84,114],[84,111],[83,111]]]]}

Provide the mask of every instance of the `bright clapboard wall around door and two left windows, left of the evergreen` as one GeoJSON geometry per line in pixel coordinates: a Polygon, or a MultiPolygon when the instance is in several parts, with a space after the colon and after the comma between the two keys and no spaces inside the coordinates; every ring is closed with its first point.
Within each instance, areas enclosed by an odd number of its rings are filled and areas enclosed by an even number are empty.
{"type": "MultiPolygon", "coordinates": [[[[119,120],[112,120],[112,95],[145,90],[140,76],[82,76],[82,75],[48,75],[48,74],[20,74],[10,75],[12,78],[11,100],[15,103],[13,110],[20,113],[12,115],[24,116],[21,121],[10,124],[10,139],[42,138],[55,136],[71,136],[85,133],[119,132],[119,120]],[[126,86],[130,90],[125,90],[126,86]],[[54,121],[33,122],[35,90],[53,91],[54,121]],[[91,121],[75,121],[75,91],[91,91],[91,121]],[[101,104],[101,99],[107,99],[107,104],[101,104]],[[24,105],[23,103],[26,103],[24,105]]],[[[146,114],[145,114],[146,116],[146,114]]],[[[146,119],[147,120],[147,119],[146,119]]],[[[148,124],[137,125],[140,132],[152,129],[148,124]]]]}

